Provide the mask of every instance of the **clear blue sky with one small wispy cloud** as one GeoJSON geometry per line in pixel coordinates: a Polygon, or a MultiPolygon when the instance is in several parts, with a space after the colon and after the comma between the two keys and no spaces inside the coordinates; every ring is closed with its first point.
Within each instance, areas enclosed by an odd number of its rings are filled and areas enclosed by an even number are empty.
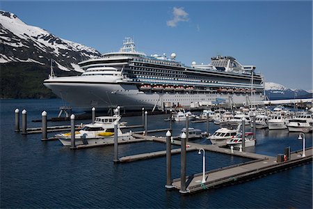
{"type": "Polygon", "coordinates": [[[1,1],[1,10],[54,35],[115,52],[125,37],[145,54],[186,65],[233,56],[266,82],[312,90],[312,1],[1,1]]]}

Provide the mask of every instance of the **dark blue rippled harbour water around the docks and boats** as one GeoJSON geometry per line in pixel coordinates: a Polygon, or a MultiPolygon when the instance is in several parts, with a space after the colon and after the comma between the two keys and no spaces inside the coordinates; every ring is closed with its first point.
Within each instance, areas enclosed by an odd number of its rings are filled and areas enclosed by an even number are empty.
{"type": "MultiPolygon", "coordinates": [[[[0,208],[312,208],[312,163],[246,183],[211,189],[189,196],[167,191],[166,158],[125,164],[113,163],[113,146],[70,150],[58,141],[40,141],[41,134],[14,132],[15,108],[28,111],[28,127],[43,110],[56,116],[61,100],[1,100],[0,208]]],[[[149,116],[149,129],[168,127],[164,115],[149,116]]],[[[141,116],[122,118],[140,124],[141,116]]],[[[83,121],[88,123],[88,121],[83,121]]],[[[77,121],[79,123],[79,121],[77,121]]],[[[68,121],[54,124],[66,124],[68,121]]],[[[52,123],[48,123],[52,125],[52,123]]],[[[206,129],[205,123],[191,126],[206,129]]],[[[173,135],[183,123],[174,123],[173,135]]],[[[210,123],[210,132],[218,126],[210,123]]],[[[164,135],[165,133],[159,133],[164,135]]],[[[53,134],[49,133],[48,137],[53,134]]],[[[305,134],[312,146],[312,134],[305,134]]],[[[250,151],[275,156],[284,148],[302,148],[298,134],[287,130],[257,130],[257,146],[250,151]]],[[[209,144],[206,139],[197,143],[209,144]]],[[[165,150],[165,144],[144,142],[119,146],[119,155],[165,150]]],[[[206,153],[207,170],[249,159],[206,153]]],[[[179,178],[180,156],[172,156],[172,178],[179,178]]],[[[187,174],[202,171],[202,156],[187,154],[187,174]]]]}

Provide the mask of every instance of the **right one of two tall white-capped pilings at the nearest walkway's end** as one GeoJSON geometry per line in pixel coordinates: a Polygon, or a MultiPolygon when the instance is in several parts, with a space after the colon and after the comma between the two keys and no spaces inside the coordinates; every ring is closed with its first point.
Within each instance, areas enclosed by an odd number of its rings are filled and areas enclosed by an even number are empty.
{"type": "Polygon", "coordinates": [[[180,154],[180,193],[186,191],[186,134],[183,132],[181,137],[181,154],[180,154]]]}

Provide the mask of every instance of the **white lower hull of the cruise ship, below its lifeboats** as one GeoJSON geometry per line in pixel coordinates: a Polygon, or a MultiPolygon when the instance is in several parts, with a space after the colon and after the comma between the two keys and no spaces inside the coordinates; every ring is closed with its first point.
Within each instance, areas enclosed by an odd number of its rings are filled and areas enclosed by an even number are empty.
{"type": "MultiPolygon", "coordinates": [[[[69,102],[84,111],[90,111],[92,107],[97,110],[107,110],[118,105],[125,109],[152,109],[154,106],[162,108],[164,102],[180,104],[190,107],[191,102],[215,102],[224,99],[228,102],[230,95],[227,93],[197,93],[197,92],[144,92],[140,91],[136,84],[122,82],[119,77],[104,79],[99,76],[86,77],[56,77],[45,81],[45,86],[50,88],[58,97],[69,102]]],[[[249,100],[262,101],[263,96],[248,96],[249,100]]],[[[242,104],[247,100],[244,94],[232,95],[232,102],[242,104]]]]}

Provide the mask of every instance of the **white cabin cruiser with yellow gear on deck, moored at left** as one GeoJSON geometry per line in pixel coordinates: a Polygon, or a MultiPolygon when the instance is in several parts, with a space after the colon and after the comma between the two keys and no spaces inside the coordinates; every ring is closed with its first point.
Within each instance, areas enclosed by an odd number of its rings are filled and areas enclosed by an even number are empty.
{"type": "MultiPolygon", "coordinates": [[[[114,123],[120,121],[120,116],[102,116],[95,118],[95,123],[89,123],[83,129],[75,132],[75,144],[102,144],[114,137],[114,123]]],[[[118,125],[118,139],[132,139],[131,132],[122,133],[118,125]]],[[[71,133],[56,134],[63,146],[71,146],[71,133]]]]}

